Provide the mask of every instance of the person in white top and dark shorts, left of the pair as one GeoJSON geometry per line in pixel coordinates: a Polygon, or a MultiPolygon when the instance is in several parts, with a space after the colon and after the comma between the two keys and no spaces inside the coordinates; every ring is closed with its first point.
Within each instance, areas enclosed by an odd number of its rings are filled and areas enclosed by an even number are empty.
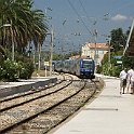
{"type": "Polygon", "coordinates": [[[124,90],[126,88],[126,77],[128,77],[128,72],[126,72],[126,68],[124,68],[120,72],[120,94],[124,94],[124,90]],[[122,90],[123,90],[123,92],[122,92],[122,90]]]}

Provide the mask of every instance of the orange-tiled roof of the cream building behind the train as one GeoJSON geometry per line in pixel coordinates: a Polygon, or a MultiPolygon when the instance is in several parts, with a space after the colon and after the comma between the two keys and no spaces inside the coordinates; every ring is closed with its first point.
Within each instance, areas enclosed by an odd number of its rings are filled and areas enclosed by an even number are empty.
{"type": "Polygon", "coordinates": [[[102,50],[108,50],[107,43],[86,43],[86,46],[90,49],[102,49],[102,50]]]}

